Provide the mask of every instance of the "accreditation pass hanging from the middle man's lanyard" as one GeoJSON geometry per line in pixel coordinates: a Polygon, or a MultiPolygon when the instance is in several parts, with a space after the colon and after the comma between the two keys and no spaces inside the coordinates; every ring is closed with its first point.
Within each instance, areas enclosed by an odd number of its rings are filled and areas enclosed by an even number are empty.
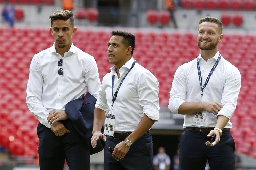
{"type": "Polygon", "coordinates": [[[112,112],[112,110],[107,109],[105,116],[106,117],[105,117],[104,135],[114,136],[116,115],[112,112]]]}

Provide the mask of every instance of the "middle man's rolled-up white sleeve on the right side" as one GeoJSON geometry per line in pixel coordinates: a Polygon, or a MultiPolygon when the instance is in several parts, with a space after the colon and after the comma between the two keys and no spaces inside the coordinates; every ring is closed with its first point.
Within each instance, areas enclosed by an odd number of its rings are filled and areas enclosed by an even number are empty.
{"type": "Polygon", "coordinates": [[[158,121],[159,118],[159,82],[150,72],[142,73],[137,82],[139,105],[143,113],[150,119],[158,121]]]}

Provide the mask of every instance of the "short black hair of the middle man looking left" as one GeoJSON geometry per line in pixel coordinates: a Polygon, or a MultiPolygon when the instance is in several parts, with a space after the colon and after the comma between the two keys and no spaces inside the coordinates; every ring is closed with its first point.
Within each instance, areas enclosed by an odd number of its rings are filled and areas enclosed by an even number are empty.
{"type": "Polygon", "coordinates": [[[133,56],[133,50],[135,48],[135,35],[121,30],[111,31],[111,34],[123,36],[121,42],[125,44],[126,47],[131,46],[131,56],[133,56]]]}

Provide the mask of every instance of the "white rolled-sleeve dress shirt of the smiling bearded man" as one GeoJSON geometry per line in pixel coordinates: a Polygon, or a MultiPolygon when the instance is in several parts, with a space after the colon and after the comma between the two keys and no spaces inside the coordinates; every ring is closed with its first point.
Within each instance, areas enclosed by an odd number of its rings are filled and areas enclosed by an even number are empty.
{"type": "MultiPolygon", "coordinates": [[[[202,85],[204,85],[211,69],[219,57],[219,51],[207,62],[199,54],[199,66],[202,75],[202,85]]],[[[213,71],[208,84],[201,96],[201,86],[198,77],[197,58],[181,65],[175,72],[172,89],[170,91],[169,109],[172,113],[178,114],[180,105],[187,102],[216,101],[224,105],[218,115],[231,118],[237,106],[238,94],[241,87],[241,75],[239,70],[230,62],[221,57],[217,67],[213,71]]],[[[218,116],[217,115],[217,116],[218,116]]],[[[184,116],[185,127],[215,127],[217,116],[206,112],[203,124],[194,123],[193,114],[184,116]]],[[[225,128],[232,128],[229,120],[225,128]]]]}

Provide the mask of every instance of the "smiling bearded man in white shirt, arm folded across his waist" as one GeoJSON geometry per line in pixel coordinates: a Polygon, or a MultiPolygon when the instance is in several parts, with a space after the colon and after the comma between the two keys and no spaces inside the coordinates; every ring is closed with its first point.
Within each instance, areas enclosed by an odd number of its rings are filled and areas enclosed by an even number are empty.
{"type": "Polygon", "coordinates": [[[185,115],[179,140],[180,170],[204,170],[207,160],[211,170],[235,169],[230,118],[237,105],[241,75],[218,51],[222,29],[219,19],[202,18],[197,36],[199,56],[180,66],[174,75],[168,107],[174,114],[185,115]]]}

